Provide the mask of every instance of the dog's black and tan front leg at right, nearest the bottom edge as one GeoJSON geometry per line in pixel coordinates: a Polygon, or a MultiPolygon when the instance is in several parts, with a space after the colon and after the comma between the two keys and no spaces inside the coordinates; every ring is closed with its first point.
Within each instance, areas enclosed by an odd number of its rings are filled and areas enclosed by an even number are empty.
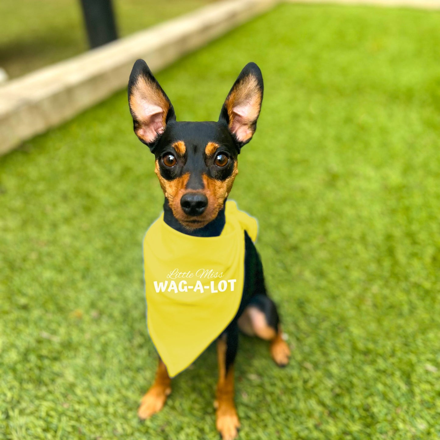
{"type": "Polygon", "coordinates": [[[237,410],[234,403],[234,360],[238,348],[238,326],[233,321],[217,341],[219,380],[217,383],[216,427],[223,440],[238,436],[237,410]]]}

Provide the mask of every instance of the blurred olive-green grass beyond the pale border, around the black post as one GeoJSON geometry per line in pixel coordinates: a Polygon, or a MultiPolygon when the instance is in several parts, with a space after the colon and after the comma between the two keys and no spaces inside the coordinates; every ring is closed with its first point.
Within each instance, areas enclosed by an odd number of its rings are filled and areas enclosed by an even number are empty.
{"type": "MultiPolygon", "coordinates": [[[[119,35],[213,0],[113,0],[119,35]]],[[[17,77],[88,49],[80,0],[1,0],[0,67],[17,77]]]]}

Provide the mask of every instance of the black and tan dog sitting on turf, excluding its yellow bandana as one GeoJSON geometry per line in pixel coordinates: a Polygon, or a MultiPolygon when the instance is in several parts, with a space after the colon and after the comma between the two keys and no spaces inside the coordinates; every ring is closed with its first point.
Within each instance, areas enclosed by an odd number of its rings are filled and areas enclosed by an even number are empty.
{"type": "MultiPolygon", "coordinates": [[[[261,71],[249,63],[227,95],[217,122],[178,122],[147,64],[136,61],[128,84],[130,112],[136,135],[154,154],[154,171],[165,194],[164,221],[170,227],[197,237],[220,235],[225,224],[225,201],[238,172],[238,154],[255,132],[262,99],[261,71]]],[[[244,266],[238,313],[217,341],[216,426],[224,440],[234,439],[240,426],[234,404],[238,329],[270,341],[271,356],[279,366],[285,366],[290,356],[277,309],[264,286],[260,257],[246,232],[244,266]]],[[[139,417],[149,418],[160,411],[170,392],[171,379],[159,359],[154,384],[142,399],[139,417]]]]}

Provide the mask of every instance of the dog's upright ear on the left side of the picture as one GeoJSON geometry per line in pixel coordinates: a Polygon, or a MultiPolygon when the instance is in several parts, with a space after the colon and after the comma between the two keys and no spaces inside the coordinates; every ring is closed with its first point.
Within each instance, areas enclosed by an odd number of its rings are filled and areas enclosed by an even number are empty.
{"type": "Polygon", "coordinates": [[[137,137],[152,150],[168,122],[176,120],[176,114],[168,96],[143,59],[135,62],[130,74],[128,103],[137,137]]]}

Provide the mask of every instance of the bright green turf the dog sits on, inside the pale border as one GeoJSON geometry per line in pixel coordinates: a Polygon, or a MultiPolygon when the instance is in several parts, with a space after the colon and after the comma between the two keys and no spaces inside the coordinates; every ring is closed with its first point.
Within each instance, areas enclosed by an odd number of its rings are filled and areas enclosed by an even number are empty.
{"type": "MultiPolygon", "coordinates": [[[[216,119],[242,66],[263,109],[231,197],[260,224],[295,346],[242,337],[241,439],[440,435],[440,14],[284,5],[158,74],[216,119]]],[[[141,241],[161,209],[125,92],[0,160],[0,438],[218,439],[209,348],[154,378],[141,241]]]]}

